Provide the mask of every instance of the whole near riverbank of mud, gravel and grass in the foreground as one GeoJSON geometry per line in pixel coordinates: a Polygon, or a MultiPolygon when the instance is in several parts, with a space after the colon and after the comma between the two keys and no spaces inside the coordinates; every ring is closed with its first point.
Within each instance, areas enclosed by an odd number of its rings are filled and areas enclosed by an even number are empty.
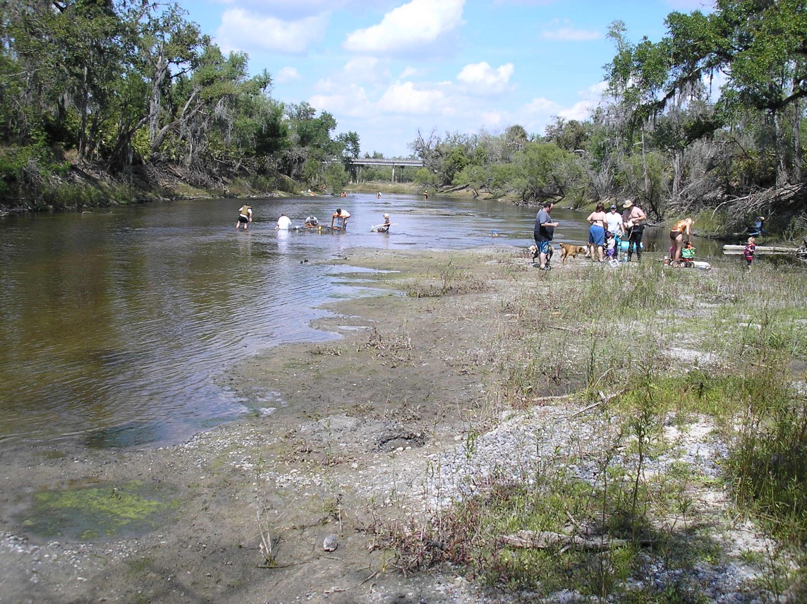
{"type": "Polygon", "coordinates": [[[659,258],[348,250],[379,295],[332,304],[343,338],[222,378],[276,408],[4,453],[0,601],[798,598],[803,535],[738,482],[782,423],[762,409],[804,404],[803,271],[659,258]]]}

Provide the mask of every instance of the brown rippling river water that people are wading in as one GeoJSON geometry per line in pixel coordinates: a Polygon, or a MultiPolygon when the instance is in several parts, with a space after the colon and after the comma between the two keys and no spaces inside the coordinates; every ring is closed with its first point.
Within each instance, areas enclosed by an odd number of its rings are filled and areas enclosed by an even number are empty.
{"type": "MultiPolygon", "coordinates": [[[[248,405],[277,405],[242,401],[215,377],[267,347],[335,337],[309,323],[324,302],[362,291],[341,283],[344,267],[311,261],[357,246],[526,247],[537,210],[412,195],[255,199],[255,221],[236,232],[242,203],[0,218],[0,445],[178,443],[248,405]],[[352,215],[345,232],[274,229],[280,212],[330,224],[339,206],[352,215]],[[370,233],[383,212],[391,233],[370,233]]],[[[553,216],[556,241],[586,240],[585,213],[553,216]]],[[[658,230],[646,232],[650,250],[658,230]]]]}

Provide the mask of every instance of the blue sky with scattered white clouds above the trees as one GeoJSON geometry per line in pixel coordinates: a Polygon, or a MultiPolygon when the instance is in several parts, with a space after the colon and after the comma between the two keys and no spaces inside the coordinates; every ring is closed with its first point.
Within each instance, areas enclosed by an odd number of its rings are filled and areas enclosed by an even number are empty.
{"type": "Polygon", "coordinates": [[[709,0],[180,0],[224,50],[269,71],[271,95],[358,132],[363,153],[405,157],[418,131],[543,134],[583,120],[613,58],[608,26],[657,41],[673,10],[709,0]]]}

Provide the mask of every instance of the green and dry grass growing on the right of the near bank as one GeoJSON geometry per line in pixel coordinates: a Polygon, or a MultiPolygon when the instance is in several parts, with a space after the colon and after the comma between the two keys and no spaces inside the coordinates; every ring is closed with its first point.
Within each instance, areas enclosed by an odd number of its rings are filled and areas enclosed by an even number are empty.
{"type": "Polygon", "coordinates": [[[489,585],[541,595],[572,589],[621,602],[705,601],[685,581],[626,587],[645,572],[644,543],[654,543],[666,568],[720,556],[692,524],[693,484],[704,476],[684,463],[659,464],[675,450],[665,426],[684,428],[688,418],[712,424],[728,447],[720,480],[736,511],[802,556],[807,396],[793,381],[804,379],[807,361],[803,272],[642,262],[592,268],[583,278],[558,273],[535,277],[501,305],[508,321],[494,346],[499,381],[490,396],[501,410],[576,394],[578,402],[600,401],[596,420],[579,431],[556,426],[553,438],[565,444],[521,468],[521,478],[494,472],[432,522],[396,527],[388,543],[399,564],[449,561],[489,585]],[[575,440],[583,430],[585,441],[575,440]],[[593,478],[577,475],[581,464],[596,467],[593,478]],[[603,547],[502,547],[501,536],[515,531],[590,533],[603,547]]]}

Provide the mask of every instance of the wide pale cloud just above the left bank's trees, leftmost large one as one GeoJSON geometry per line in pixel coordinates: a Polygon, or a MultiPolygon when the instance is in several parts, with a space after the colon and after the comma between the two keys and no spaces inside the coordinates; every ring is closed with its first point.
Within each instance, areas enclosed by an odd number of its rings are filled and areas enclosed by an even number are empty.
{"type": "Polygon", "coordinates": [[[324,36],[327,23],[326,15],[283,21],[233,9],[221,15],[216,38],[225,52],[230,48],[260,48],[299,54],[324,36]]]}

